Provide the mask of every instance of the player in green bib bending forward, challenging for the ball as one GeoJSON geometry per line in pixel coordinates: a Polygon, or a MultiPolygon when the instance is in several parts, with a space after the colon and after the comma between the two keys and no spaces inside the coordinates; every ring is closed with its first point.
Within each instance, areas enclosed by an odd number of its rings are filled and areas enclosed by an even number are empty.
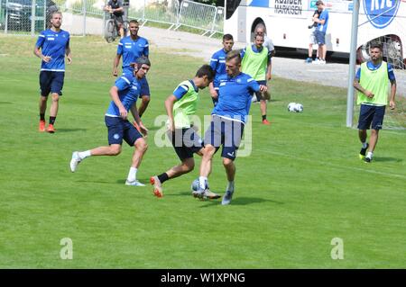
{"type": "MultiPolygon", "coordinates": [[[[165,101],[168,113],[167,136],[172,142],[175,152],[180,158],[180,165],[173,166],[161,175],[154,175],[150,182],[153,185],[153,194],[162,197],[162,184],[180,175],[188,174],[195,167],[193,154],[201,156],[202,140],[193,128],[192,116],[198,109],[198,90],[207,87],[214,78],[214,71],[209,65],[198,69],[192,80],[183,81],[165,101]]],[[[220,195],[208,191],[208,198],[220,198],[220,195]]]]}

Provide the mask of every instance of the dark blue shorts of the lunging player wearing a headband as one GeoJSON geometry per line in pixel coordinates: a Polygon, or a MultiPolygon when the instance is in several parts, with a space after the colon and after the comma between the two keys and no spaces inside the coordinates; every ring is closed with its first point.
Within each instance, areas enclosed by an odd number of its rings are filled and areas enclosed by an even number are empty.
{"type": "Polygon", "coordinates": [[[130,121],[105,116],[105,122],[109,145],[121,145],[124,139],[130,147],[133,147],[137,139],[143,138],[143,135],[134,128],[130,121]]]}

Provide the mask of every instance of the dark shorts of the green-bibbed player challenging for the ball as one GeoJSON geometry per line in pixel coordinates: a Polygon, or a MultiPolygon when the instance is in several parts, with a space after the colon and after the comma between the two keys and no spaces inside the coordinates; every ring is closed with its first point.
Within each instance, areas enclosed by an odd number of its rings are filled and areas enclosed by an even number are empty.
{"type": "Polygon", "coordinates": [[[200,137],[196,133],[196,130],[192,128],[177,129],[173,132],[169,131],[167,136],[171,140],[172,146],[175,148],[175,152],[181,161],[193,157],[193,154],[203,148],[200,137]]]}

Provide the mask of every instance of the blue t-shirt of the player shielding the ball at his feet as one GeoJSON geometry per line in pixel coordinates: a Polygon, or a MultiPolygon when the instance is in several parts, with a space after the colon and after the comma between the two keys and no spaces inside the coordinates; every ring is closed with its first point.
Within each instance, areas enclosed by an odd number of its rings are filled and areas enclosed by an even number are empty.
{"type": "Polygon", "coordinates": [[[211,114],[232,121],[247,121],[254,92],[259,91],[258,83],[249,75],[240,73],[235,77],[220,76],[220,96],[211,114]]]}

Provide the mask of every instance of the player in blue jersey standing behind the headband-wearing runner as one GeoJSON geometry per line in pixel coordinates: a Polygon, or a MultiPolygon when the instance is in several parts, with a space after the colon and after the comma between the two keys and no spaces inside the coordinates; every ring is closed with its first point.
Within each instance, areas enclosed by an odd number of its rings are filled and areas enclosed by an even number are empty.
{"type": "MultiPolygon", "coordinates": [[[[120,63],[120,58],[123,57],[123,75],[126,74],[133,74],[133,67],[130,66],[131,63],[135,61],[136,58],[146,57],[148,58],[150,51],[149,51],[149,43],[143,37],[138,36],[138,30],[140,29],[140,25],[136,20],[130,21],[129,24],[130,29],[130,36],[127,36],[120,40],[117,47],[117,53],[115,55],[115,60],[113,63],[113,76],[118,75],[118,64],[120,63]]],[[[142,102],[138,109],[138,114],[141,117],[143,112],[145,112],[148,103],[150,103],[150,86],[148,85],[148,81],[146,77],[140,81],[141,85],[141,93],[140,97],[142,102]]]]}

